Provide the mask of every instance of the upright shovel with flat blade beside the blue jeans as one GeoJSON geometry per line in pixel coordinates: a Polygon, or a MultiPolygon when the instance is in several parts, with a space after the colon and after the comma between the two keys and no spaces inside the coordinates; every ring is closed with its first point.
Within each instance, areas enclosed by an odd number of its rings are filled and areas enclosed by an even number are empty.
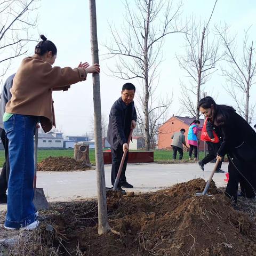
{"type": "Polygon", "coordinates": [[[34,172],[34,182],[33,182],[33,187],[34,187],[33,203],[37,210],[46,210],[46,209],[49,209],[50,206],[44,195],[44,189],[36,187],[37,145],[38,145],[38,127],[36,127],[36,132],[35,132],[35,149],[34,149],[35,172],[34,172]]]}

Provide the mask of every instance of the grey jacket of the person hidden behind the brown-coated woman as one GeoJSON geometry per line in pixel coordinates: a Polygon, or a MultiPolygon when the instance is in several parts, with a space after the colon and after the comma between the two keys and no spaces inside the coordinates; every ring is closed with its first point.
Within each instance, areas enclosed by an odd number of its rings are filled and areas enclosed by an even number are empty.
{"type": "Polygon", "coordinates": [[[0,96],[0,128],[4,129],[3,124],[3,115],[5,113],[5,105],[6,103],[11,99],[12,94],[10,92],[10,89],[12,87],[12,82],[15,74],[12,74],[9,76],[3,86],[3,90],[0,96]]]}

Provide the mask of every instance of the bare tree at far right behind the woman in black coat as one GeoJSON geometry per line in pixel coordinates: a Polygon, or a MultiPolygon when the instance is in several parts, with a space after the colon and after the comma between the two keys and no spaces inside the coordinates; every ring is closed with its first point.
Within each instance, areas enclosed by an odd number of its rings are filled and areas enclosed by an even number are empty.
{"type": "Polygon", "coordinates": [[[239,114],[250,124],[256,104],[255,101],[254,103],[250,103],[251,87],[255,84],[256,74],[256,52],[253,41],[249,42],[248,36],[250,28],[245,31],[242,56],[236,52],[236,37],[228,36],[228,27],[225,26],[223,29],[216,29],[225,47],[225,60],[229,68],[221,68],[222,74],[226,77],[227,81],[227,86],[224,88],[235,100],[239,114]],[[242,96],[238,92],[241,92],[242,96]]]}

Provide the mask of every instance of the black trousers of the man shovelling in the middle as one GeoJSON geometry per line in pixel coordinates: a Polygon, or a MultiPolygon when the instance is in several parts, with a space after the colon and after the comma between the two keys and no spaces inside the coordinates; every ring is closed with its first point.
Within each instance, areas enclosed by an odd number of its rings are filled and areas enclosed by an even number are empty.
{"type": "MultiPolygon", "coordinates": [[[[121,159],[122,159],[123,154],[124,154],[124,151],[123,151],[123,147],[121,146],[121,144],[118,145],[116,150],[111,148],[111,157],[112,157],[111,183],[113,186],[114,186],[114,183],[116,180],[116,176],[118,173],[119,166],[121,164],[121,159]]],[[[121,176],[119,179],[119,184],[126,181],[125,171],[126,171],[128,156],[129,156],[129,151],[127,152],[126,157],[125,157],[124,165],[123,165],[121,176]]]]}

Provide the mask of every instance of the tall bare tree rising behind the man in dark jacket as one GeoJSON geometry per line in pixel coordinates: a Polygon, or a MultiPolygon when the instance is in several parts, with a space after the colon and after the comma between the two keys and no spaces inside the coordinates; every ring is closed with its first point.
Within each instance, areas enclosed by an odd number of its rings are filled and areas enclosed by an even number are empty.
{"type": "MultiPolygon", "coordinates": [[[[150,95],[157,84],[157,67],[162,61],[162,46],[165,36],[182,31],[178,19],[181,3],[172,1],[135,0],[134,8],[124,2],[124,24],[117,30],[110,26],[113,42],[105,45],[109,58],[116,57],[116,68],[111,74],[121,79],[139,78],[143,83],[141,124],[145,134],[146,150],[150,148],[150,95]],[[143,120],[143,122],[142,122],[143,120]]],[[[157,105],[157,104],[156,104],[157,105]]]]}

